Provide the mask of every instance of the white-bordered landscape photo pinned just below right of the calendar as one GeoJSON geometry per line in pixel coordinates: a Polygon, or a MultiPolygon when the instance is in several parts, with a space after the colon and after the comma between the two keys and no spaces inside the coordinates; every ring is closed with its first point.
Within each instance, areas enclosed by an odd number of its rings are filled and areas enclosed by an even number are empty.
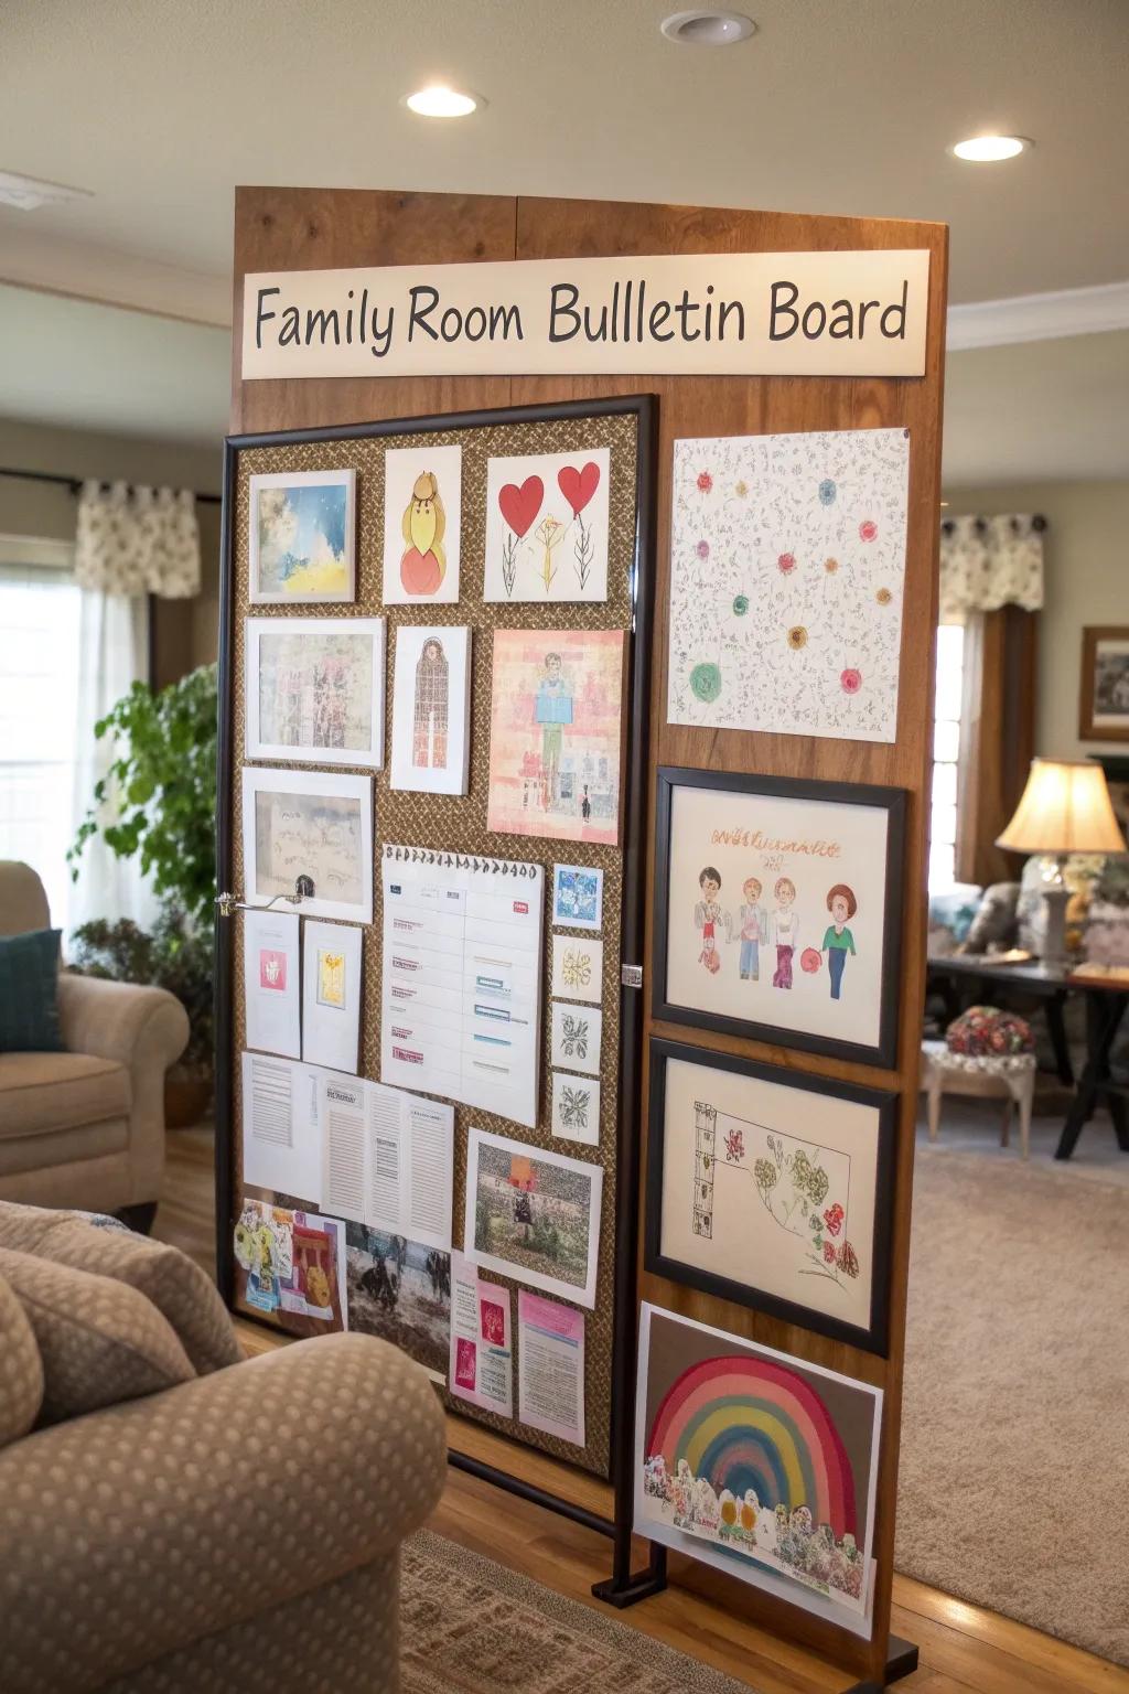
{"type": "Polygon", "coordinates": [[[603,1181],[599,1165],[471,1130],[465,1257],[591,1311],[603,1181]]]}

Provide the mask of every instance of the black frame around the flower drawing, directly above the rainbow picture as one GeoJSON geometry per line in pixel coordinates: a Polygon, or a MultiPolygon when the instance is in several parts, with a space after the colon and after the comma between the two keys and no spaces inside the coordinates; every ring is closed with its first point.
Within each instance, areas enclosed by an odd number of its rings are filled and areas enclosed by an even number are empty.
{"type": "Polygon", "coordinates": [[[809,1071],[789,1071],[782,1066],[758,1064],[753,1059],[741,1059],[738,1054],[718,1052],[711,1047],[694,1047],[689,1042],[672,1042],[653,1035],[650,1040],[650,1110],[647,1127],[647,1203],[643,1216],[643,1267],[653,1276],[680,1282],[684,1287],[697,1289],[702,1294],[714,1294],[718,1299],[733,1301],[736,1306],[748,1306],[750,1311],[763,1311],[770,1318],[784,1323],[796,1323],[816,1335],[826,1335],[833,1342],[846,1342],[863,1352],[889,1355],[889,1308],[890,1308],[890,1232],[894,1225],[894,1165],[897,1149],[897,1101],[894,1089],[865,1088],[858,1082],[840,1082],[834,1077],[816,1076],[809,1071]],[[870,1243],[870,1262],[873,1265],[870,1282],[870,1321],[867,1328],[846,1323],[841,1318],[828,1316],[799,1301],[784,1299],[746,1282],[716,1276],[699,1265],[670,1259],[662,1250],[662,1186],[665,1165],[665,1132],[667,1132],[667,1060],[682,1059],[713,1071],[731,1071],[758,1082],[774,1082],[780,1088],[794,1088],[809,1094],[824,1094],[831,1099],[853,1101],[860,1106],[873,1106],[878,1113],[878,1137],[875,1149],[875,1206],[873,1206],[873,1240],[870,1243]]]}

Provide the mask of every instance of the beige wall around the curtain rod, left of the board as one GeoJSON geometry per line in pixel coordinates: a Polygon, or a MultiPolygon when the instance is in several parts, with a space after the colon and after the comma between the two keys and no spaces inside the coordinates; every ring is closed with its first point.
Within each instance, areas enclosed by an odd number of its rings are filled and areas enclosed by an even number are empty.
{"type": "MultiPolygon", "coordinates": [[[[220,491],[222,444],[191,447],[129,435],[47,429],[19,418],[0,418],[0,466],[17,471],[56,471],[61,476],[96,476],[102,481],[168,483],[196,493],[220,491]]],[[[196,664],[215,659],[220,603],[220,508],[196,505],[200,520],[201,593],[198,600],[157,601],[157,684],[169,683],[196,664]]],[[[25,483],[0,476],[0,534],[74,535],[74,496],[51,483],[25,483]]]]}

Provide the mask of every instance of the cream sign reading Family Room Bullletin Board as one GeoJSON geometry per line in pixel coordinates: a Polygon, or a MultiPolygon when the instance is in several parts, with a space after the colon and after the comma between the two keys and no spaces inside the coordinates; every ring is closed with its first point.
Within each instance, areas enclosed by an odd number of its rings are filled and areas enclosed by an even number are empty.
{"type": "Polygon", "coordinates": [[[928,296],[928,249],[271,271],[242,376],[922,376],[928,296]]]}

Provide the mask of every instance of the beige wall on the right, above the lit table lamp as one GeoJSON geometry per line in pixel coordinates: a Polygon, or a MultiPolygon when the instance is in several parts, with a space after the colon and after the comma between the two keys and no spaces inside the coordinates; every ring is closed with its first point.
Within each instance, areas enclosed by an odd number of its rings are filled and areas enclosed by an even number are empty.
{"type": "Polygon", "coordinates": [[[1039,618],[1034,749],[1085,759],[1127,752],[1126,742],[1078,740],[1082,630],[1129,627],[1129,483],[1009,483],[946,490],[948,512],[1041,512],[1046,532],[1046,603],[1039,618]]]}

